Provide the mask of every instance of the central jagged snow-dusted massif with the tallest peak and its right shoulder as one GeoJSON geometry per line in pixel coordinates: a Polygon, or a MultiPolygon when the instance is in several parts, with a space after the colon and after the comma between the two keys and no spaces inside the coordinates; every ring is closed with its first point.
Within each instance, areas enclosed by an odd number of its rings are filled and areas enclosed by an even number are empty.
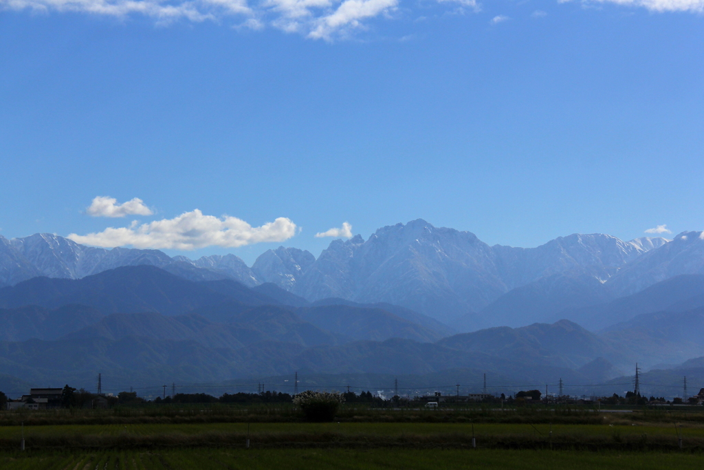
{"type": "Polygon", "coordinates": [[[664,240],[574,234],[536,248],[490,247],[473,233],[418,219],[380,228],[366,241],[359,235],[334,240],[292,291],[310,301],[389,302],[449,321],[516,287],[568,271],[603,283],[664,240]]]}

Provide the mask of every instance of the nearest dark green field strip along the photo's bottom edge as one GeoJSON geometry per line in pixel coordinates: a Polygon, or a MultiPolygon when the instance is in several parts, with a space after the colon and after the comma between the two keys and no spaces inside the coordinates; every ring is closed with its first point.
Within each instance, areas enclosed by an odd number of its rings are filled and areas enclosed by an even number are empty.
{"type": "Polygon", "coordinates": [[[696,469],[701,454],[547,450],[186,449],[13,452],[4,470],[46,469],[696,469]]]}

